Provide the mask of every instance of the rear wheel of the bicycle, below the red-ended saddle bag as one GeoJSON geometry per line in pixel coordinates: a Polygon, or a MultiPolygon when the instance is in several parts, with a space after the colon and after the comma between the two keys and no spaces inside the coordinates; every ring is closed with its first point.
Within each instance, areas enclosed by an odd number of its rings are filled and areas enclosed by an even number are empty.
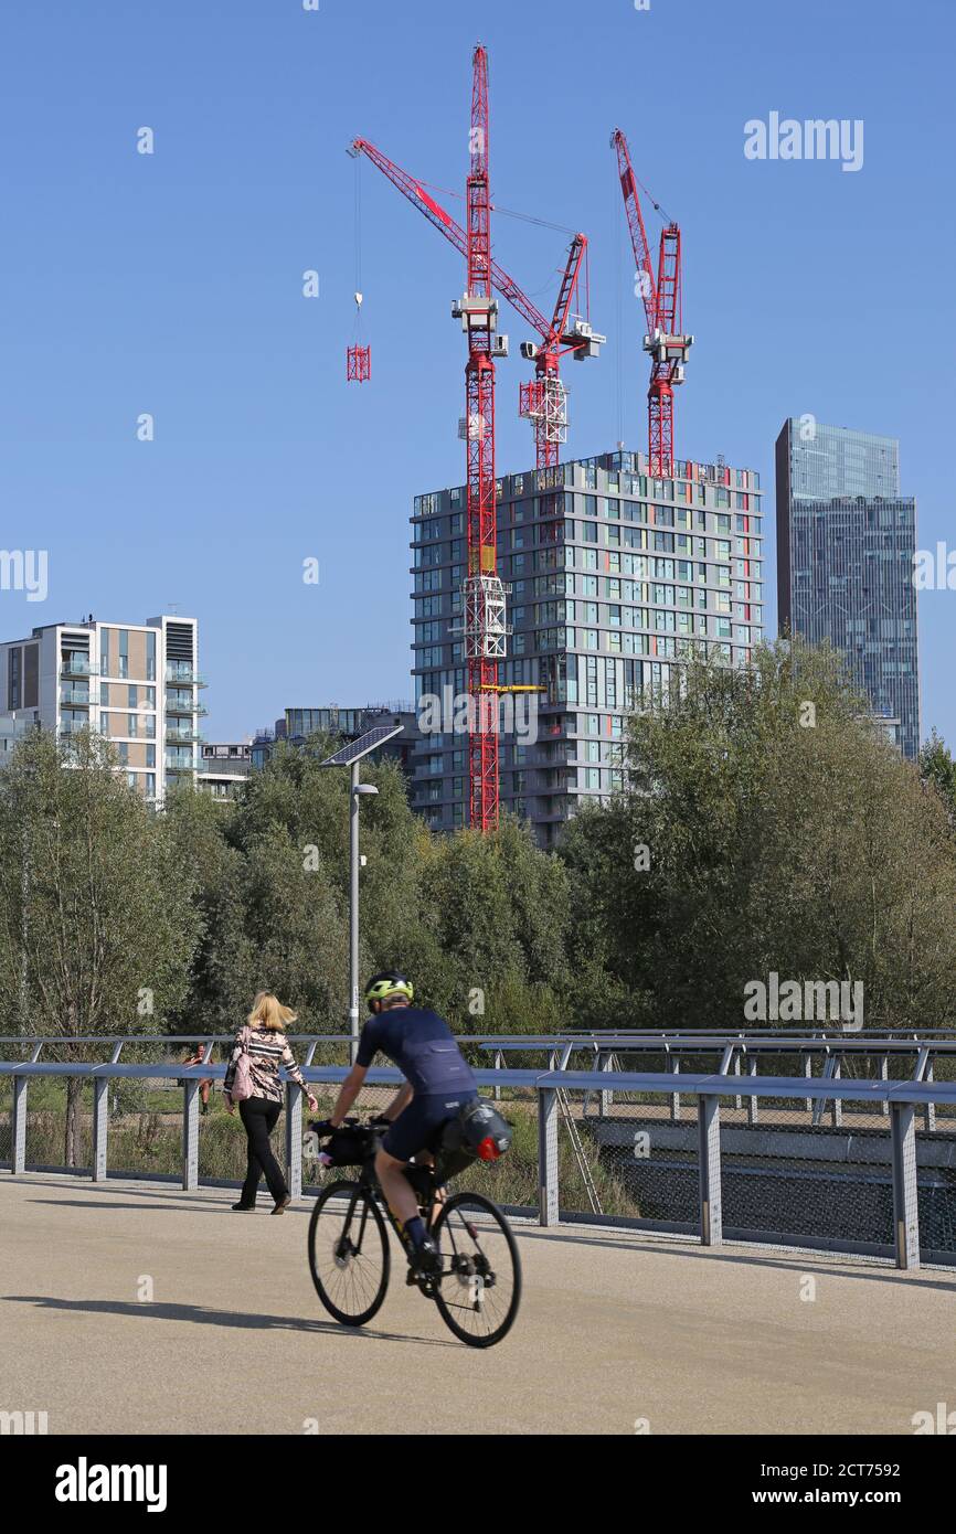
{"type": "Polygon", "coordinates": [[[482,1193],[453,1193],[431,1236],[442,1258],[436,1304],[468,1347],[493,1347],[511,1328],[522,1299],[522,1262],[511,1226],[482,1193]]]}

